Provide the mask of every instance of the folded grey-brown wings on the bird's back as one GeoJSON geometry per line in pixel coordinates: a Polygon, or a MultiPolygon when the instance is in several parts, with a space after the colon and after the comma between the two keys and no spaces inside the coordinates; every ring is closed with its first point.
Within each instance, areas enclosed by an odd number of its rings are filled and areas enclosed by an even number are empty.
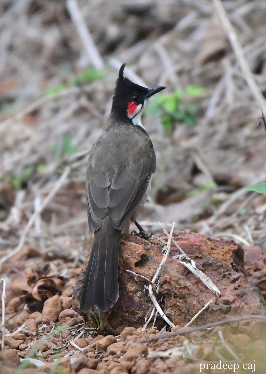
{"type": "MultiPolygon", "coordinates": [[[[90,153],[86,177],[90,230],[99,230],[106,215],[112,219],[115,229],[122,230],[145,193],[151,174],[155,171],[155,153],[152,145],[149,145],[150,153],[145,160],[136,154],[131,163],[125,158],[124,165],[120,160],[117,164],[119,167],[115,168],[107,155],[105,161],[102,157],[97,159],[95,149],[97,145],[93,146],[90,153]]],[[[133,157],[132,154],[130,157],[133,157]]]]}

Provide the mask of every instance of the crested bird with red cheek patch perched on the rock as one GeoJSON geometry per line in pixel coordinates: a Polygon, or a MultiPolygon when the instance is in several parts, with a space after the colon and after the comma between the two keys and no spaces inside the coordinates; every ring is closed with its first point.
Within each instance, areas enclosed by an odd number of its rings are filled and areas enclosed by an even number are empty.
{"type": "Polygon", "coordinates": [[[156,170],[154,147],[141,115],[147,100],[166,87],[133,83],[124,76],[125,66],[118,73],[105,130],[93,144],[87,163],[87,215],[94,239],[81,288],[81,312],[93,307],[106,312],[118,300],[121,233],[129,232],[130,220],[143,232],[136,217],[156,170]]]}

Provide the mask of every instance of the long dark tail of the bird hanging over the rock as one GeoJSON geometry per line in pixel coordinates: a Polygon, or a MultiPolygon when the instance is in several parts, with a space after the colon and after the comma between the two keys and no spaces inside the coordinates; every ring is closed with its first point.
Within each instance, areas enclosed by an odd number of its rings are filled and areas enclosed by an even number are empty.
{"type": "Polygon", "coordinates": [[[95,232],[90,260],[80,296],[80,310],[87,312],[95,304],[105,312],[118,300],[118,255],[121,231],[114,229],[111,219],[103,219],[95,232]]]}

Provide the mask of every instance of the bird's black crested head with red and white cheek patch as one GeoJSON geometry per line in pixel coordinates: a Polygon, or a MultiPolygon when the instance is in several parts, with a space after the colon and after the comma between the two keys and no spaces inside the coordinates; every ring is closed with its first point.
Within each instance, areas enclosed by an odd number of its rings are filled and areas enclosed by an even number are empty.
{"type": "Polygon", "coordinates": [[[124,77],[125,66],[126,64],[123,64],[119,69],[113,97],[112,113],[119,120],[126,119],[132,122],[133,125],[142,126],[140,117],[147,99],[166,87],[157,86],[146,88],[133,83],[131,80],[124,77]]]}

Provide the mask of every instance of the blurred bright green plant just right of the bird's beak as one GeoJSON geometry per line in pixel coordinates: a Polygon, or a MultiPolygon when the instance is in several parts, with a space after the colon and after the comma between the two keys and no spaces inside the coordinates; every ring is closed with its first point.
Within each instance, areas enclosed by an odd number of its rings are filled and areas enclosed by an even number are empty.
{"type": "Polygon", "coordinates": [[[198,106],[188,101],[191,97],[206,95],[206,93],[208,91],[204,87],[190,85],[186,86],[185,92],[175,90],[171,96],[158,94],[148,104],[147,110],[150,115],[160,114],[166,134],[174,130],[176,122],[195,126],[197,123],[195,111],[198,106]]]}

